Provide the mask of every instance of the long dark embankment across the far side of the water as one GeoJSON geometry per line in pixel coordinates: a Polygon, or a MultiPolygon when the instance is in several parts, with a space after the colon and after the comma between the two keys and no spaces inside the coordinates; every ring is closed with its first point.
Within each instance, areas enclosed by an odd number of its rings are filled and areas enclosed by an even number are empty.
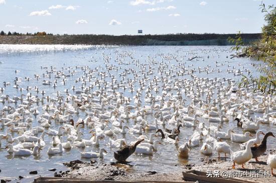
{"type": "MultiPolygon", "coordinates": [[[[0,36],[0,44],[42,44],[42,45],[167,45],[208,46],[231,45],[227,38],[235,34],[168,34],[168,35],[47,35],[47,36],[0,36]]],[[[249,44],[261,39],[261,34],[241,34],[243,42],[249,44]]]]}

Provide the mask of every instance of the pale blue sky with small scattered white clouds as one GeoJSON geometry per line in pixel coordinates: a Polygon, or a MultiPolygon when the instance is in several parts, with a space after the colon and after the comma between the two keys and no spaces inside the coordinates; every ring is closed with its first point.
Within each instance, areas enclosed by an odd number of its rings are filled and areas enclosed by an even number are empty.
{"type": "MultiPolygon", "coordinates": [[[[264,0],[272,5],[275,0],[264,0]]],[[[258,0],[0,0],[5,32],[135,35],[258,33],[258,0]]]]}

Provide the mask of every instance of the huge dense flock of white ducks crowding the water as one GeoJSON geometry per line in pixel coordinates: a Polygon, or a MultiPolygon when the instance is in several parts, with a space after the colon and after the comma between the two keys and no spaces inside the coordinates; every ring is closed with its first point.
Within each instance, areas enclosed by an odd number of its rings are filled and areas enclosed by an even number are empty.
{"type": "MultiPolygon", "coordinates": [[[[70,156],[77,149],[75,158],[104,159],[114,153],[115,159],[126,160],[132,153],[155,158],[168,150],[164,158],[171,160],[228,157],[233,168],[251,158],[258,161],[266,143],[274,143],[276,97],[254,85],[239,88],[237,78],[251,71],[242,63],[233,66],[230,53],[229,48],[204,49],[140,58],[115,50],[112,57],[102,52],[83,66],[44,64],[24,77],[17,69],[11,73],[14,80],[0,87],[0,153],[70,156]],[[217,60],[212,67],[204,65],[209,59],[217,60]],[[194,67],[197,62],[204,67],[194,67]]],[[[275,152],[267,164],[276,168],[275,152]]]]}

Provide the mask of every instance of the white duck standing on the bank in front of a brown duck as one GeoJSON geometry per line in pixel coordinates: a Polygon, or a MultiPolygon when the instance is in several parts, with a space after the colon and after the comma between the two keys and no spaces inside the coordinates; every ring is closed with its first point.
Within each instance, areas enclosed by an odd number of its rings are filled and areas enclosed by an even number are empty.
{"type": "Polygon", "coordinates": [[[243,164],[247,161],[249,161],[252,158],[252,152],[250,147],[253,145],[257,145],[254,140],[250,140],[245,147],[245,150],[239,150],[237,152],[233,152],[230,149],[231,153],[231,161],[233,161],[232,168],[235,169],[235,164],[241,164],[242,168],[244,168],[243,164]]]}

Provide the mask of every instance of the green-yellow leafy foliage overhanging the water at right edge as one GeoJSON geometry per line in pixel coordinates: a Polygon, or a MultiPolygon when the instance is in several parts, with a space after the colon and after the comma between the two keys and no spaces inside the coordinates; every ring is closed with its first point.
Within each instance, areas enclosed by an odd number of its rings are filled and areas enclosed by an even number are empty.
{"type": "Polygon", "coordinates": [[[262,39],[258,42],[250,44],[248,47],[242,47],[240,35],[237,35],[235,39],[228,39],[235,43],[234,49],[236,51],[242,48],[244,55],[255,58],[263,63],[254,64],[254,66],[260,71],[259,78],[252,76],[243,76],[240,87],[244,87],[247,84],[253,84],[256,90],[261,92],[267,92],[272,95],[276,95],[276,7],[266,7],[263,3],[260,5],[261,12],[265,13],[264,20],[266,25],[262,28],[262,39]]]}

